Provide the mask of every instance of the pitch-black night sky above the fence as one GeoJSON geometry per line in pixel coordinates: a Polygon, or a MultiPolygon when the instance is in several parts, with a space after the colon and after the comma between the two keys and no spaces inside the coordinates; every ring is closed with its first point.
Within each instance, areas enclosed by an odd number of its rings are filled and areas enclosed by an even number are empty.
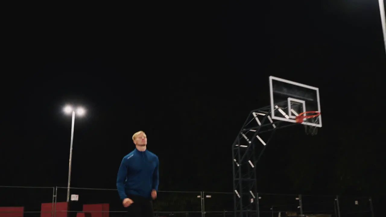
{"type": "Polygon", "coordinates": [[[0,185],[67,185],[71,103],[87,110],[71,186],[115,188],[142,130],[159,190],[232,192],[232,142],[249,111],[269,105],[272,75],[320,88],[323,128],[276,131],[259,191],[385,195],[378,1],[349,2],[18,10],[3,32],[0,185]]]}

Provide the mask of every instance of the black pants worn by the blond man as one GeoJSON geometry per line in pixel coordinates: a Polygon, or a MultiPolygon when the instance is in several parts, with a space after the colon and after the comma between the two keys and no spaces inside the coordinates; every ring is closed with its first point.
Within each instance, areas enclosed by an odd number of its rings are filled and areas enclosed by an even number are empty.
{"type": "Polygon", "coordinates": [[[154,217],[153,202],[150,198],[143,198],[137,195],[129,195],[133,203],[127,207],[126,217],[154,217]]]}

